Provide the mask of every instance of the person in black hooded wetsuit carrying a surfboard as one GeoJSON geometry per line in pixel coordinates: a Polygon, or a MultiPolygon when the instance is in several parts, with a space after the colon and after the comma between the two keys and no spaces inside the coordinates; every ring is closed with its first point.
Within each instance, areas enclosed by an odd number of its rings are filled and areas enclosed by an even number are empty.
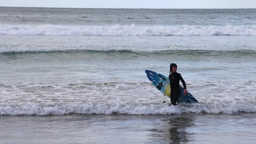
{"type": "Polygon", "coordinates": [[[179,98],[179,80],[182,81],[183,87],[184,87],[184,95],[187,95],[187,87],[186,87],[186,83],[183,80],[181,74],[177,73],[177,64],[175,63],[171,63],[170,64],[170,75],[169,75],[169,79],[170,79],[170,86],[171,86],[171,103],[172,105],[176,105],[176,102],[179,98]]]}

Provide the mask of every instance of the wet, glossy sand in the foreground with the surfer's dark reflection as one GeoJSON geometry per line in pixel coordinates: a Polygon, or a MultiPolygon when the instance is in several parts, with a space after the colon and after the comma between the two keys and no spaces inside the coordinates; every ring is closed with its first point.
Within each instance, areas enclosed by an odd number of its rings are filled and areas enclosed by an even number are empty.
{"type": "Polygon", "coordinates": [[[255,113],[1,116],[1,143],[254,143],[255,113]]]}

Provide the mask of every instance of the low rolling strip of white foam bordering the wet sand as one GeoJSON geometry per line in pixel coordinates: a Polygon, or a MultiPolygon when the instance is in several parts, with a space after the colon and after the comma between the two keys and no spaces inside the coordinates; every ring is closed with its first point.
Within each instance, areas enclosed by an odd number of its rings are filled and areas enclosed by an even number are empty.
{"type": "Polygon", "coordinates": [[[256,101],[236,101],[234,103],[198,103],[168,106],[167,104],[143,105],[127,104],[80,104],[62,106],[1,106],[0,115],[65,115],[78,113],[91,114],[127,114],[127,115],[179,115],[181,113],[237,113],[256,112],[256,101]]]}

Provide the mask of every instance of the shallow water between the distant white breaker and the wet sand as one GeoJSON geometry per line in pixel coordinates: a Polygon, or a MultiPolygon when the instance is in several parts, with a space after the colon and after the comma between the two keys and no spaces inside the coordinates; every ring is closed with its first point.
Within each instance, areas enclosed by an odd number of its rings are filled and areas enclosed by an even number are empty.
{"type": "Polygon", "coordinates": [[[1,38],[1,115],[256,111],[252,36],[1,38]],[[144,70],[168,75],[170,62],[177,62],[199,104],[161,105],[168,99],[150,86],[144,70]]]}

